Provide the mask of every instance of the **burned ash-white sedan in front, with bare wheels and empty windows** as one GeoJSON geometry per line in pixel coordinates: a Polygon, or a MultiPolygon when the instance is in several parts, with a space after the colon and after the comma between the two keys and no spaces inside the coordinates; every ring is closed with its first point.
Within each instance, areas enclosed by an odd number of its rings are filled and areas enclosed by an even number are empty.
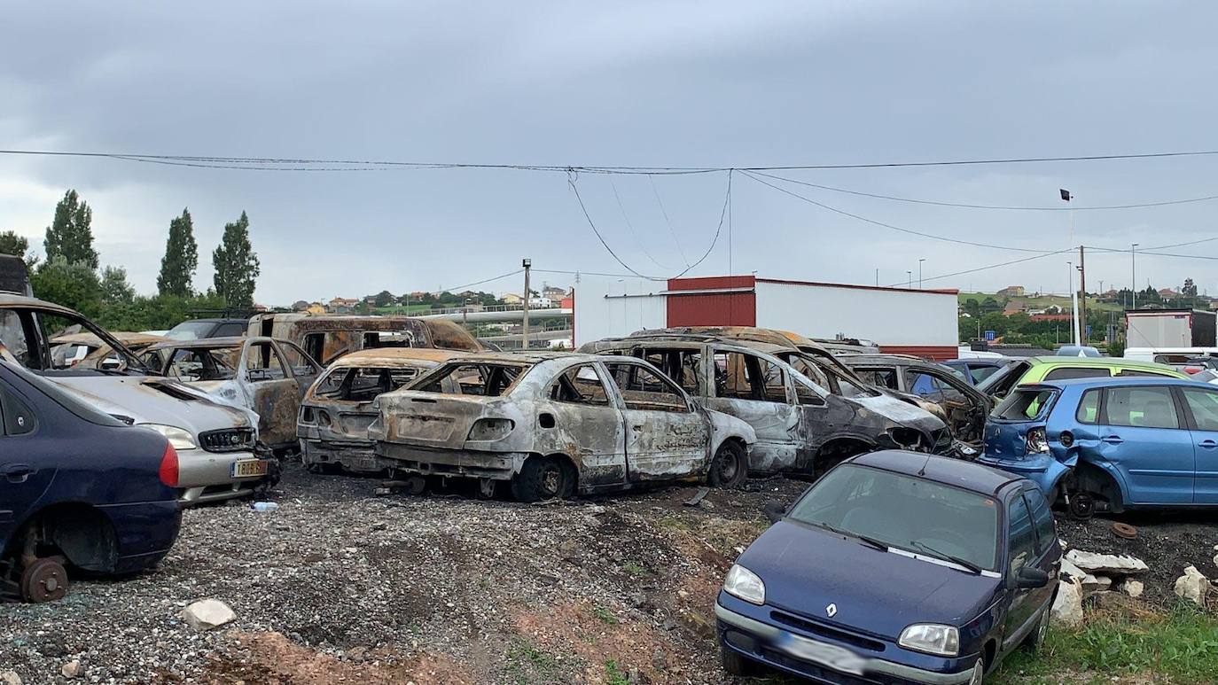
{"type": "Polygon", "coordinates": [[[453,359],[378,400],[369,426],[395,471],[466,477],[520,501],[705,481],[733,487],[755,433],[650,364],[569,353],[453,359]]]}

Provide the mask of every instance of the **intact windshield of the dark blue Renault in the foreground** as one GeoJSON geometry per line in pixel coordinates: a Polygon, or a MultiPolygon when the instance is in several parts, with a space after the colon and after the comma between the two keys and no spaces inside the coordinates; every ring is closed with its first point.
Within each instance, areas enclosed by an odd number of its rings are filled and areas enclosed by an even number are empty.
{"type": "Polygon", "coordinates": [[[994,499],[914,476],[838,466],[787,517],[926,556],[957,557],[989,571],[998,565],[994,499]]]}

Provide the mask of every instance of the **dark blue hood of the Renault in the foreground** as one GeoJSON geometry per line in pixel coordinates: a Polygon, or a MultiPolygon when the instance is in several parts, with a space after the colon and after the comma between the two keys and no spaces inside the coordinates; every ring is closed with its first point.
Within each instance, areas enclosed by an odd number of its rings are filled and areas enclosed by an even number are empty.
{"type": "Polygon", "coordinates": [[[737,563],[765,583],[766,605],[890,640],[914,623],[963,625],[1000,583],[792,521],[770,527],[737,563]]]}

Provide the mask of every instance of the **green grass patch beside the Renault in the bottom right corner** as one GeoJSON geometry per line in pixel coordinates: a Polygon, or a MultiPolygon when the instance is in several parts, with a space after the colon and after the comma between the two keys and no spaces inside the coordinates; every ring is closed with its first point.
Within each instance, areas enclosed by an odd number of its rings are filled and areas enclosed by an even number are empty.
{"type": "Polygon", "coordinates": [[[995,673],[995,684],[1101,683],[1152,674],[1170,683],[1213,683],[1218,673],[1218,619],[1188,606],[1133,619],[1093,616],[1083,628],[1050,629],[1038,653],[1019,650],[995,673]]]}

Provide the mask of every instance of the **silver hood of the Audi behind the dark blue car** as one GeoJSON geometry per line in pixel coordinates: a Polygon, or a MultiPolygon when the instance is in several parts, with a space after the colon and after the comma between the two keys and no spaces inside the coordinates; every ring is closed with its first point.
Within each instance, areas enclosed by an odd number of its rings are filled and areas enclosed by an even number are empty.
{"type": "Polygon", "coordinates": [[[257,415],[227,406],[194,388],[149,376],[48,376],[80,400],[135,423],[161,423],[192,433],[257,426],[257,415]]]}

